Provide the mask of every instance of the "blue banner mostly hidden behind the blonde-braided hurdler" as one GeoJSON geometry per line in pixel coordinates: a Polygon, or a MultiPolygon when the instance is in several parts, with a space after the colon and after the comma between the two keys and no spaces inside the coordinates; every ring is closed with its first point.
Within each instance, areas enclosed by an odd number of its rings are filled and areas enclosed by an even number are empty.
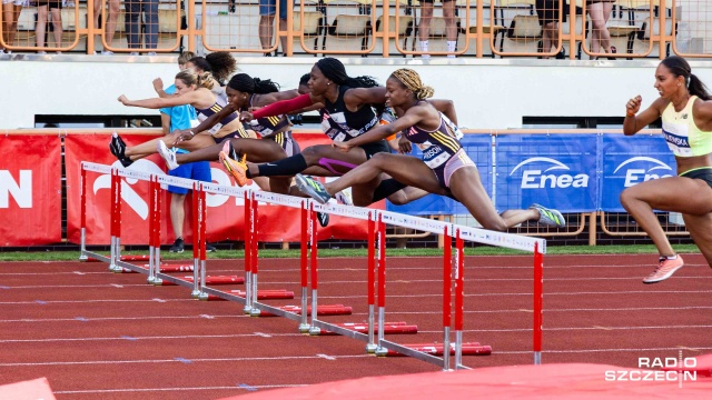
{"type": "MultiPolygon", "coordinates": [[[[461,140],[467,156],[473,160],[479,170],[479,178],[492,197],[492,136],[491,134],[465,134],[461,140]]],[[[422,157],[421,150],[414,146],[413,156],[422,157]]],[[[404,206],[394,206],[389,201],[386,202],[386,210],[403,212],[411,216],[431,216],[431,214],[468,214],[469,211],[459,202],[435,194],[428,194],[419,200],[413,201],[404,206]]]]}

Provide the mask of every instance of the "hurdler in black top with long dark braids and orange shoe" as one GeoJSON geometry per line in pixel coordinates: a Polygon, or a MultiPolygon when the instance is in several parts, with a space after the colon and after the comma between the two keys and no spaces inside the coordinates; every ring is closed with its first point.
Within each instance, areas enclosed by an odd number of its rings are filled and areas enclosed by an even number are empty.
{"type": "MultiPolygon", "coordinates": [[[[352,140],[379,124],[380,112],[375,109],[374,104],[378,108],[383,107],[386,100],[385,88],[378,87],[373,78],[352,78],[346,73],[346,69],[339,60],[324,58],[312,68],[308,86],[309,93],[274,103],[254,112],[243,112],[240,117],[244,120],[251,120],[276,113],[299,112],[318,108],[324,133],[337,141],[352,140]]],[[[385,140],[353,147],[346,152],[338,151],[329,144],[313,146],[300,154],[263,164],[233,160],[228,157],[229,154],[224,154],[222,159],[230,164],[229,171],[239,182],[247,178],[294,176],[299,172],[320,177],[337,177],[366,162],[379,152],[390,152],[385,140]]],[[[404,184],[393,179],[384,180],[375,191],[372,188],[367,196],[362,194],[358,188],[354,188],[353,202],[358,206],[370,204],[389,198],[404,188],[404,184]]],[[[417,192],[417,198],[423,196],[422,191],[417,192]]],[[[415,199],[408,199],[407,194],[400,191],[397,199],[390,200],[396,203],[405,203],[415,199]]]]}

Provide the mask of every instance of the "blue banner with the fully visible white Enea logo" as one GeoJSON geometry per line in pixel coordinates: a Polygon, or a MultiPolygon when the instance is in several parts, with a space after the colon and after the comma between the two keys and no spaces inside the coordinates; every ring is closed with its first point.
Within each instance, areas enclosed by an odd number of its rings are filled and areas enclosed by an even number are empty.
{"type": "Polygon", "coordinates": [[[592,134],[500,134],[495,146],[495,208],[532,203],[562,212],[596,208],[596,149],[592,134]]]}

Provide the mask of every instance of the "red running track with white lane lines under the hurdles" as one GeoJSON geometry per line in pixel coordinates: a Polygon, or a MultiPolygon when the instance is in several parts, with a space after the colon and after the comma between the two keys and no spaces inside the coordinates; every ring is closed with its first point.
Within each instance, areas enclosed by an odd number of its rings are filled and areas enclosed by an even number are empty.
{"type": "MultiPolygon", "coordinates": [[[[655,256],[546,256],[544,363],[636,368],[640,357],[712,352],[712,271],[699,254],[668,281],[645,286],[655,256]]],[[[299,293],[298,260],[260,260],[260,289],[299,293]]],[[[442,260],[387,261],[388,321],[418,326],[403,343],[442,341],[442,260]]],[[[319,303],[354,308],[335,322],[366,320],[366,260],[319,260],[319,303]]],[[[210,274],[240,274],[240,260],[210,260],[210,274]]],[[[185,276],[185,273],[180,274],[185,276]]],[[[472,368],[530,364],[532,257],[468,257],[465,341],[493,347],[472,368]]],[[[216,287],[221,290],[241,286],[216,287]]],[[[308,337],[283,318],[152,287],[146,276],[101,263],[0,266],[0,384],[47,377],[58,399],[217,399],[360,377],[437,371],[408,358],[375,358],[364,343],[308,337]]],[[[270,303],[295,304],[296,300],[270,303]]]]}

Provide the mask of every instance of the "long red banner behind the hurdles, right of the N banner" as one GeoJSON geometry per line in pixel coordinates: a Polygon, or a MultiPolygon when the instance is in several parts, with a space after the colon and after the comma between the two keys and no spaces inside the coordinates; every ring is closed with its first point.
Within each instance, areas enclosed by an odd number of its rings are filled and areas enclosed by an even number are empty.
{"type": "MultiPolygon", "coordinates": [[[[126,143],[136,146],[155,137],[145,134],[121,134],[126,143]]],[[[309,146],[328,143],[323,133],[299,133],[296,139],[301,149],[309,146]]],[[[67,173],[67,238],[70,242],[80,241],[80,177],[81,161],[102,164],[120,163],[109,151],[110,136],[71,134],[65,139],[65,162],[67,173]]],[[[151,173],[162,173],[166,169],[164,161],[156,154],[138,160],[129,167],[151,173]]],[[[224,186],[235,186],[233,178],[217,163],[211,163],[212,181],[224,186]]],[[[87,172],[87,244],[109,243],[109,208],[110,208],[109,174],[87,172]]],[[[121,178],[121,243],[148,243],[148,182],[121,178]]],[[[251,183],[250,188],[257,190],[251,183]]],[[[161,242],[171,243],[175,240],[170,217],[170,194],[164,191],[161,210],[161,242]]],[[[192,196],[186,200],[186,223],[184,238],[187,243],[192,241],[190,221],[192,196]]],[[[222,194],[207,194],[208,206],[208,240],[244,240],[245,212],[244,199],[230,198],[222,194]]],[[[383,208],[383,202],[377,207],[383,208]]],[[[257,230],[259,241],[294,242],[300,239],[300,211],[280,206],[259,203],[257,230]]],[[[320,228],[319,239],[365,239],[366,223],[343,217],[332,217],[327,228],[320,228]]]]}

